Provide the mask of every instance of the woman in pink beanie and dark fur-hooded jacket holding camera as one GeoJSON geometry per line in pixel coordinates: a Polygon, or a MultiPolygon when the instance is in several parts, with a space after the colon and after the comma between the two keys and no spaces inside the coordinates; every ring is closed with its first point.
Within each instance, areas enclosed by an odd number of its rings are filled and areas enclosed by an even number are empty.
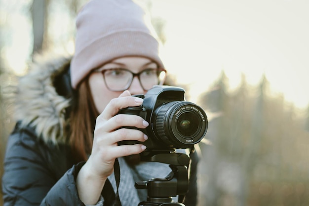
{"type": "MultiPolygon", "coordinates": [[[[146,147],[117,142],[148,137],[121,127],[146,128],[149,123],[117,113],[143,103],[131,95],[164,82],[158,48],[144,10],[133,1],[91,0],[81,9],[72,60],[37,64],[20,80],[18,123],[4,162],[4,206],[113,205],[116,159],[122,205],[146,200],[145,190],[136,190],[134,182],[163,178],[170,168],[123,158],[146,147]]],[[[191,170],[187,206],[196,204],[196,164],[191,170]]]]}

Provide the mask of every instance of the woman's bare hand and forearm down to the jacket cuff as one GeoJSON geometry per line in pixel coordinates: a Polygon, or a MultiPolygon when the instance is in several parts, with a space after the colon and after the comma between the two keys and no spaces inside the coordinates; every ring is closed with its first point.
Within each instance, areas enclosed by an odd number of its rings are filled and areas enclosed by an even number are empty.
{"type": "Polygon", "coordinates": [[[137,115],[117,114],[120,109],[140,106],[142,103],[142,98],[131,96],[129,91],[124,91],[118,98],[112,99],[98,116],[91,155],[77,175],[79,197],[86,201],[85,204],[91,205],[98,201],[107,177],[113,173],[116,158],[139,154],[146,149],[142,144],[117,144],[122,140],[144,142],[148,139],[140,130],[120,128],[146,128],[149,124],[143,118],[137,115]]]}

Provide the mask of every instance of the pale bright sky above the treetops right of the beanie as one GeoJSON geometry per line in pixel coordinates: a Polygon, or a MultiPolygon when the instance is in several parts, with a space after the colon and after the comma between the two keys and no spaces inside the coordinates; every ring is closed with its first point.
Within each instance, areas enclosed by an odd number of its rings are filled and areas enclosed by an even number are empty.
{"type": "Polygon", "coordinates": [[[153,0],[152,13],[166,21],[169,71],[192,90],[222,70],[231,87],[265,73],[274,92],[308,106],[309,0],[153,0]]]}

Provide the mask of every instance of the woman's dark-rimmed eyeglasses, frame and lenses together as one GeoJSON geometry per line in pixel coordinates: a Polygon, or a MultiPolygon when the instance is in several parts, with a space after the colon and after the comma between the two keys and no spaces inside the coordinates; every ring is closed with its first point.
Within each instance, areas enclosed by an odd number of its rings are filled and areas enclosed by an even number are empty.
{"type": "Polygon", "coordinates": [[[161,68],[145,69],[139,73],[133,73],[122,68],[94,70],[94,72],[102,73],[105,85],[111,91],[124,91],[128,89],[134,77],[138,77],[142,88],[148,91],[154,85],[162,85],[166,75],[166,70],[161,68]]]}

